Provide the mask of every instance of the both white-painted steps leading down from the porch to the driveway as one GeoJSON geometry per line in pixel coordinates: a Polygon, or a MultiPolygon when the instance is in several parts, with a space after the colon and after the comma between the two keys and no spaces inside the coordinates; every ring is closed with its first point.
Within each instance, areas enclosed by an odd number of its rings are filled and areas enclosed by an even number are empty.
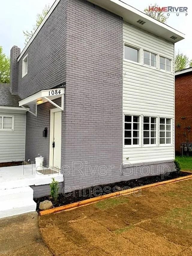
{"type": "Polygon", "coordinates": [[[0,189],[0,218],[36,211],[30,187],[0,189]]]}

